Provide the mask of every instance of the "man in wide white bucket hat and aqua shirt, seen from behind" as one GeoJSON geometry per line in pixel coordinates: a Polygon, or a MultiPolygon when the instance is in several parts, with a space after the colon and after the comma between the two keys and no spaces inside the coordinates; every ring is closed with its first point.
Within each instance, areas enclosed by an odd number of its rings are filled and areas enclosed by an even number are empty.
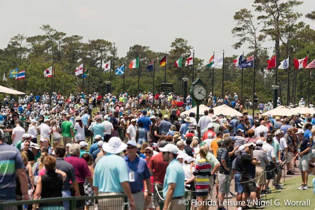
{"type": "MultiPolygon", "coordinates": [[[[125,160],[117,154],[127,148],[118,137],[112,137],[108,143],[104,143],[102,149],[107,154],[102,157],[95,166],[93,186],[95,195],[128,195],[129,206],[135,207],[129,187],[129,174],[125,160]]],[[[99,199],[99,206],[107,209],[110,203],[116,203],[117,206],[123,205],[123,198],[99,199]]]]}

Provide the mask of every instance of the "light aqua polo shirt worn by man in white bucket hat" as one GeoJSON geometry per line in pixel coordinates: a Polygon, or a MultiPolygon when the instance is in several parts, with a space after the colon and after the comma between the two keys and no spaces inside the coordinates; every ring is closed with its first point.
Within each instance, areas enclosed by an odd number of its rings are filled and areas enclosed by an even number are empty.
{"type": "Polygon", "coordinates": [[[93,186],[98,187],[99,192],[123,192],[120,183],[128,181],[126,162],[121,156],[107,153],[99,159],[93,176],[93,186]]]}

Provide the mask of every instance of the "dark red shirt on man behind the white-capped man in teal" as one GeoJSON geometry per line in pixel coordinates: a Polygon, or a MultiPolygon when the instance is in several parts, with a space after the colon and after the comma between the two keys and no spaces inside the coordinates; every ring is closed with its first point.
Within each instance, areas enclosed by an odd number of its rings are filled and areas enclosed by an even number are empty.
{"type": "Polygon", "coordinates": [[[151,157],[151,160],[149,162],[149,169],[154,170],[153,181],[155,183],[163,185],[164,176],[168,165],[168,162],[163,161],[162,153],[151,157]]]}

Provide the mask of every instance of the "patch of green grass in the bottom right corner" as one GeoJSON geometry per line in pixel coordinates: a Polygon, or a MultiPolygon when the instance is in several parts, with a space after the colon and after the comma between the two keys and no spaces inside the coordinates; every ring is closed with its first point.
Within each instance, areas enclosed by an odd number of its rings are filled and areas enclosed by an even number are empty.
{"type": "MultiPolygon", "coordinates": [[[[314,186],[312,184],[312,179],[315,178],[314,175],[308,176],[308,182],[307,185],[309,187],[308,190],[297,190],[298,187],[301,186],[301,176],[295,177],[292,179],[288,179],[285,181],[285,183],[282,181],[284,184],[284,189],[283,190],[273,190],[273,187],[270,187],[272,190],[272,193],[267,195],[266,201],[270,201],[272,203],[272,206],[266,206],[265,208],[268,209],[294,209],[294,210],[305,210],[305,209],[314,209],[315,207],[315,198],[314,198],[314,193],[313,189],[314,186]],[[278,199],[279,204],[282,206],[276,206],[275,202],[277,203],[276,199],[278,199]],[[285,206],[284,200],[292,200],[292,201],[306,201],[306,199],[310,199],[310,206],[285,206]]],[[[261,197],[262,199],[265,199],[265,196],[261,197]]]]}

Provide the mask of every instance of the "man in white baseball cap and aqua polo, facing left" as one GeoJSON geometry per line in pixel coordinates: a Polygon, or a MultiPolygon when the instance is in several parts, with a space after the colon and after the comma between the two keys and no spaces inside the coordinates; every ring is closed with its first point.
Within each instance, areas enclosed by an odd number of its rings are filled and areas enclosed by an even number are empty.
{"type": "Polygon", "coordinates": [[[165,199],[163,210],[184,210],[185,200],[185,175],[180,162],[176,159],[178,148],[173,144],[167,144],[159,148],[163,161],[169,163],[166,168],[163,185],[163,197],[165,199]]]}

